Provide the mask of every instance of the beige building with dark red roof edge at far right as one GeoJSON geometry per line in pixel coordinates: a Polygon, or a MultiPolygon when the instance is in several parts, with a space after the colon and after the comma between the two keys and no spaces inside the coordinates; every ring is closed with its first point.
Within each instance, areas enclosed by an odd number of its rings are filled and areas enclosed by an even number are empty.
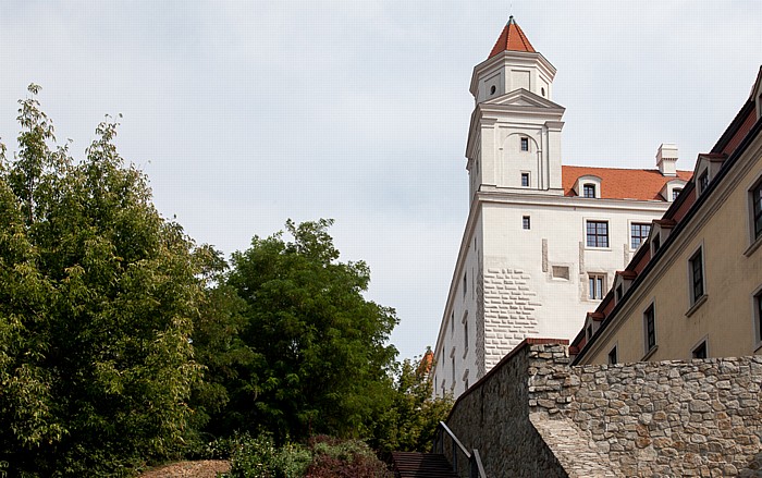
{"type": "Polygon", "coordinates": [[[576,364],[762,353],[762,69],[574,340],[576,364]]]}

